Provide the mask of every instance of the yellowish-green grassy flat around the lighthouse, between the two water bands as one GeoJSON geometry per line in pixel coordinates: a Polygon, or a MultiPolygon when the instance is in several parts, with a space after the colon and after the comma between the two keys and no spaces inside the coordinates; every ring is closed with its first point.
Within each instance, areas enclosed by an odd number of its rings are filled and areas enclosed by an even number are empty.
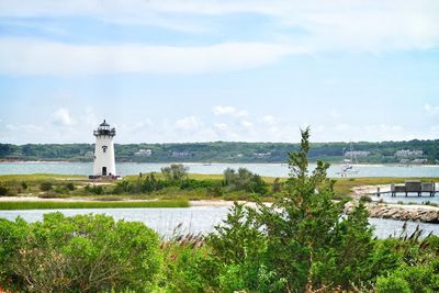
{"type": "MultiPolygon", "coordinates": [[[[143,178],[145,178],[144,174],[143,178]]],[[[155,173],[157,179],[162,179],[162,174],[160,172],[155,173]]],[[[223,180],[223,174],[189,174],[190,179],[194,180],[214,180],[221,182],[223,180]]],[[[136,176],[126,176],[124,180],[127,181],[136,181],[139,177],[136,176]]],[[[275,178],[273,177],[262,177],[263,181],[269,184],[269,189],[271,190],[271,185],[275,178]]],[[[338,178],[335,183],[335,193],[336,199],[346,199],[352,193],[352,189],[360,185],[375,185],[375,184],[391,184],[391,183],[403,183],[405,180],[413,180],[419,178],[338,178]]],[[[286,178],[282,178],[282,181],[285,181],[286,178]]],[[[435,181],[439,182],[439,178],[423,178],[423,181],[435,181]]],[[[63,199],[63,198],[87,198],[88,200],[97,200],[97,201],[125,201],[130,199],[136,200],[165,200],[165,201],[175,201],[183,200],[247,200],[251,201],[254,194],[249,194],[246,192],[227,192],[223,194],[212,194],[206,191],[206,189],[193,189],[193,190],[181,190],[179,188],[170,187],[160,191],[154,191],[150,193],[139,193],[139,194],[112,194],[112,189],[115,184],[115,181],[111,182],[98,182],[98,184],[104,184],[103,194],[93,194],[88,192],[85,188],[87,185],[92,187],[94,183],[88,181],[85,176],[66,176],[66,174],[2,174],[0,176],[0,188],[7,188],[8,193],[5,195],[15,196],[15,195],[30,195],[30,196],[38,196],[45,199],[63,199]],[[41,184],[44,182],[50,182],[53,185],[49,191],[43,192],[41,189],[41,184]],[[25,183],[25,184],[24,184],[25,183]],[[67,184],[75,184],[74,190],[68,190],[67,184]]],[[[272,194],[267,193],[262,200],[270,201],[272,200],[272,194]]],[[[80,201],[80,200],[79,200],[80,201]]],[[[95,204],[95,203],[92,203],[95,204]]],[[[105,203],[110,204],[110,203],[105,203]]],[[[120,204],[120,203],[113,203],[120,204]]],[[[111,206],[113,207],[113,206],[111,206]]],[[[135,207],[135,206],[134,206],[135,207]]],[[[146,206],[140,206],[146,207],[146,206]]],[[[40,207],[36,207],[40,209],[40,207]]],[[[44,209],[44,207],[41,207],[44,209]]],[[[50,209],[50,207],[47,207],[50,209]]],[[[68,207],[70,209],[70,207],[68,207]]]]}

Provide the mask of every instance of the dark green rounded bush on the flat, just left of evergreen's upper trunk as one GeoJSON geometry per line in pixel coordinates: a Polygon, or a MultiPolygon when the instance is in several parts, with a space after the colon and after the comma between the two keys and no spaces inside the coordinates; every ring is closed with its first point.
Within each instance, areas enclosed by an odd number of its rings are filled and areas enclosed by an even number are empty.
{"type": "Polygon", "coordinates": [[[224,171],[224,185],[226,191],[247,191],[259,194],[266,194],[268,191],[268,185],[262,178],[246,168],[239,168],[238,171],[227,168],[224,171]]]}

